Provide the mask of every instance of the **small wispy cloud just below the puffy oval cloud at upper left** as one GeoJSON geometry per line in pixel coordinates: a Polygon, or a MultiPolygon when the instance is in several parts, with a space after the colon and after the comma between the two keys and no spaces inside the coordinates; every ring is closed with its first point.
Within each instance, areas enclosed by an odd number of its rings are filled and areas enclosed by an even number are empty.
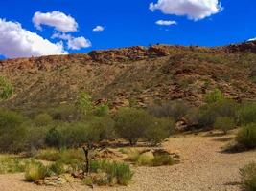
{"type": "Polygon", "coordinates": [[[52,38],[67,40],[68,49],[72,50],[80,50],[81,48],[88,48],[92,46],[91,42],[83,36],[73,37],[70,34],[57,32],[52,35],[52,38]]]}

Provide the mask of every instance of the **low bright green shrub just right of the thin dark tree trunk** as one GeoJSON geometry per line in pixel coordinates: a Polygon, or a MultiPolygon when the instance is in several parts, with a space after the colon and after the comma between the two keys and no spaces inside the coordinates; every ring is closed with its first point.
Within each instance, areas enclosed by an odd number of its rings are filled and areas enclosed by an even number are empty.
{"type": "Polygon", "coordinates": [[[92,161],[90,170],[95,173],[106,173],[108,184],[112,184],[116,180],[116,183],[120,185],[128,185],[133,176],[128,164],[107,160],[92,161]]]}

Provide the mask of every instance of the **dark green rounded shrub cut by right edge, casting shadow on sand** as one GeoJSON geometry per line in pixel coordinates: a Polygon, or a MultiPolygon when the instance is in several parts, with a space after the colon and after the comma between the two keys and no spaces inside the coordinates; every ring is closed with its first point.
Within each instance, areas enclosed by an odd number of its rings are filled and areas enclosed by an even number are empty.
{"type": "Polygon", "coordinates": [[[256,148],[256,123],[248,124],[241,128],[237,141],[247,149],[256,148]]]}

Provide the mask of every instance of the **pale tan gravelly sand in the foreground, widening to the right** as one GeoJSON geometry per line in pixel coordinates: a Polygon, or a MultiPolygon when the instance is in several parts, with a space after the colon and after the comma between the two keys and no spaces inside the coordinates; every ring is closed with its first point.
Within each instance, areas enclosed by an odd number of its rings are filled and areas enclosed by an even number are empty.
{"type": "MultiPolygon", "coordinates": [[[[231,136],[232,137],[232,136],[231,136]]],[[[230,136],[200,134],[170,138],[164,147],[178,150],[182,162],[174,166],[137,167],[127,187],[95,187],[93,190],[134,191],[238,191],[239,168],[256,161],[256,151],[227,154],[221,147],[230,136]]],[[[37,186],[23,180],[23,174],[0,175],[3,191],[87,191],[89,187],[79,183],[61,187],[37,186]]]]}

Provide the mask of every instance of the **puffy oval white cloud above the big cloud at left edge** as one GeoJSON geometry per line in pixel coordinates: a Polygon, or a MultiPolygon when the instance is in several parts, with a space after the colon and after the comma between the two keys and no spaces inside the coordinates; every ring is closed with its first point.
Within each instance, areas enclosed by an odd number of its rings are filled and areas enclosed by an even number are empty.
{"type": "Polygon", "coordinates": [[[33,23],[37,30],[42,30],[41,25],[54,27],[58,32],[77,32],[78,23],[70,15],[66,15],[60,11],[52,11],[42,13],[35,12],[33,23]]]}

